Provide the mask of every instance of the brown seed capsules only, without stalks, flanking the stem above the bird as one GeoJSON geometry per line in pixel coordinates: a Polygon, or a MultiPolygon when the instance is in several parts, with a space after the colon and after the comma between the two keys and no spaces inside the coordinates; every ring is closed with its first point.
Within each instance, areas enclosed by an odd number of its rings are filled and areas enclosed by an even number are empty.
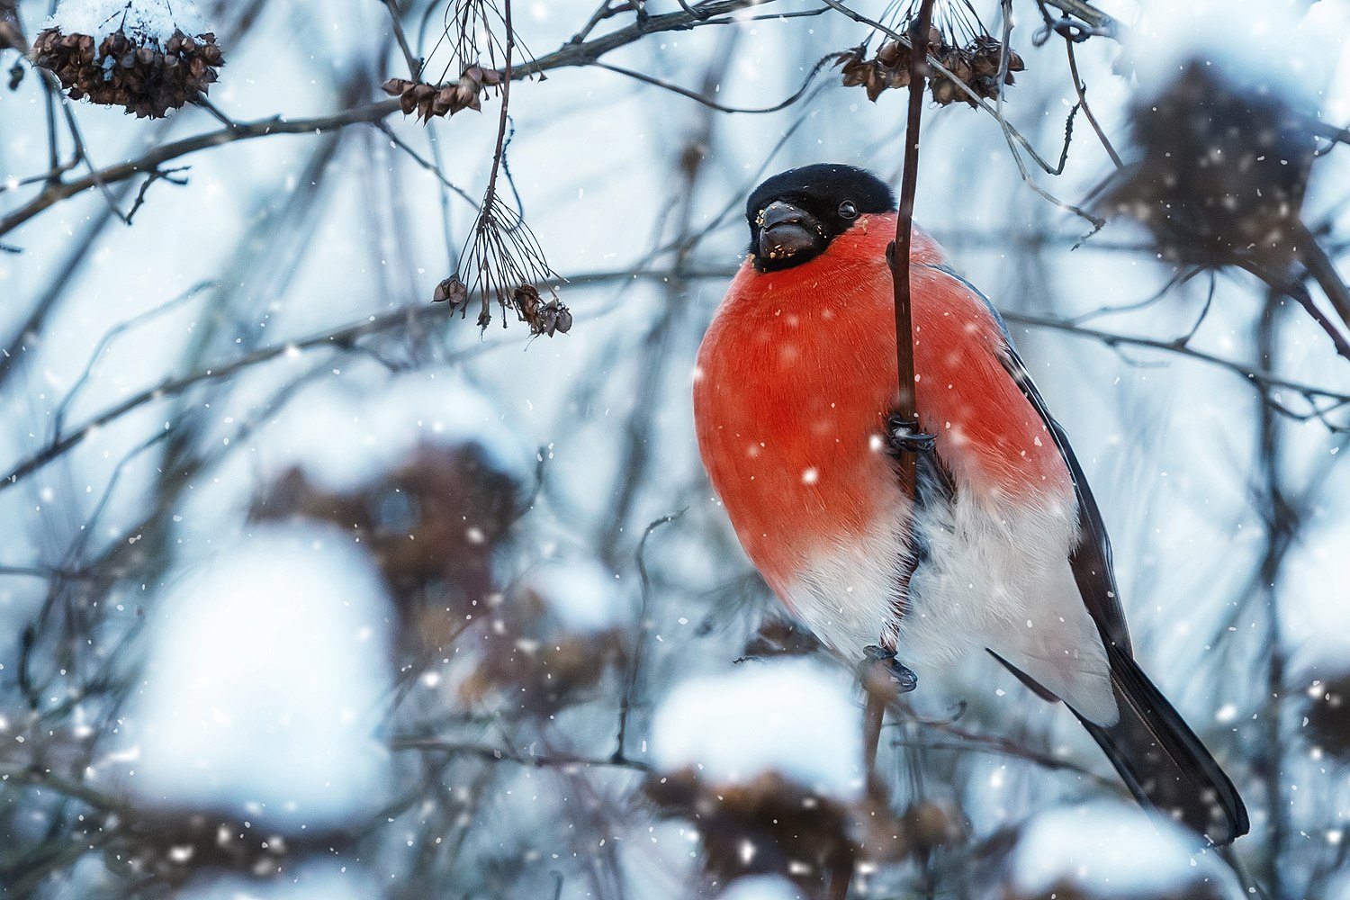
{"type": "MultiPolygon", "coordinates": [[[[991,35],[977,34],[965,46],[949,43],[941,31],[929,28],[927,53],[942,63],[956,78],[933,70],[929,73],[929,92],[933,103],[942,107],[964,100],[976,105],[957,81],[969,88],[971,93],[984,100],[992,100],[999,93],[999,69],[1003,65],[1003,43],[991,35]]],[[[867,46],[857,46],[838,54],[834,65],[842,69],[844,86],[863,85],[868,100],[875,101],[887,88],[907,88],[910,84],[910,49],[899,40],[883,43],[876,55],[867,58],[867,46]]],[[[1003,84],[1014,84],[1013,73],[1026,69],[1026,63],[1011,47],[1007,50],[1007,72],[1003,84]]]]}

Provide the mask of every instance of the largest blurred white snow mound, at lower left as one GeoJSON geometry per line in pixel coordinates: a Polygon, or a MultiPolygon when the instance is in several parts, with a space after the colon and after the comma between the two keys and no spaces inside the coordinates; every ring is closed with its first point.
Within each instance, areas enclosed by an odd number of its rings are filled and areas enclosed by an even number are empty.
{"type": "Polygon", "coordinates": [[[331,528],[261,528],[178,580],[128,716],[140,797],[262,807],[281,827],[367,812],[387,770],[386,607],[369,557],[331,528]]]}

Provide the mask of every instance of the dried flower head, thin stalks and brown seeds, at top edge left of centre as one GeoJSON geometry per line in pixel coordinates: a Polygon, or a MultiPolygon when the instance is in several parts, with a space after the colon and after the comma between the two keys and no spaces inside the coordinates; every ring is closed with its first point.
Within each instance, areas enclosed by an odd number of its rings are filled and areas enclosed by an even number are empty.
{"type": "Polygon", "coordinates": [[[510,65],[521,65],[514,57],[522,50],[529,59],[529,51],[514,34],[508,40],[509,32],[509,16],[495,0],[455,0],[446,8],[441,36],[431,51],[431,57],[447,54],[440,78],[435,84],[390,78],[382,89],[398,97],[404,115],[416,112],[423,121],[432,116],[454,116],[460,109],[479,111],[483,99],[493,90],[501,92],[508,50],[510,65]]]}

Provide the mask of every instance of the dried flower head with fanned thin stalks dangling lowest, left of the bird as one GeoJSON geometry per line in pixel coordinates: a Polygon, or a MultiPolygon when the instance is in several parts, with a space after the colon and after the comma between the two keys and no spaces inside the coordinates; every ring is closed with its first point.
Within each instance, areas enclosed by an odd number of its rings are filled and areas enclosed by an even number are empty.
{"type": "Polygon", "coordinates": [[[470,297],[477,297],[479,328],[491,322],[491,301],[495,300],[504,316],[513,312],[516,318],[529,324],[533,335],[552,337],[571,331],[572,314],[558,300],[558,291],[549,286],[551,297],[545,301],[536,287],[558,277],[544,259],[539,240],[520,213],[501,202],[493,189],[483,200],[464,247],[460,271],[464,274],[456,273],[436,286],[433,302],[448,302],[463,314],[470,297]]]}

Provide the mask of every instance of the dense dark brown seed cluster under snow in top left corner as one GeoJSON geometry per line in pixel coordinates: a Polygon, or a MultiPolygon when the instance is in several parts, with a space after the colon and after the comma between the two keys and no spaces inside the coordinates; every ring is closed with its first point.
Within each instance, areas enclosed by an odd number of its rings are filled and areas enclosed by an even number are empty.
{"type": "Polygon", "coordinates": [[[72,100],[88,97],[151,119],[207,93],[224,63],[215,34],[192,36],[178,28],[163,46],[120,28],[103,40],[47,28],[34,42],[32,58],[61,80],[72,100]]]}

